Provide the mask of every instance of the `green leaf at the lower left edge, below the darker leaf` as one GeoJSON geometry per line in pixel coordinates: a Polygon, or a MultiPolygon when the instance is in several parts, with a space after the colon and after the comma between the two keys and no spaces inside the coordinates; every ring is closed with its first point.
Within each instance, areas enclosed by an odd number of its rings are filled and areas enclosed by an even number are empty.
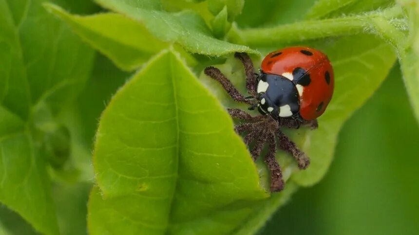
{"type": "Polygon", "coordinates": [[[45,159],[18,116],[1,106],[0,116],[0,201],[38,231],[58,234],[45,159]]]}

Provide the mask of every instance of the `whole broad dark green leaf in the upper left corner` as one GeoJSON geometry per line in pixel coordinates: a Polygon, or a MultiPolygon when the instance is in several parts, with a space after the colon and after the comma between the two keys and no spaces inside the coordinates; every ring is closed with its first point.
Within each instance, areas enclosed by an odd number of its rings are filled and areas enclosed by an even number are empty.
{"type": "Polygon", "coordinates": [[[93,56],[41,2],[0,1],[1,103],[24,119],[31,105],[47,103],[57,111],[74,97],[93,56]]]}

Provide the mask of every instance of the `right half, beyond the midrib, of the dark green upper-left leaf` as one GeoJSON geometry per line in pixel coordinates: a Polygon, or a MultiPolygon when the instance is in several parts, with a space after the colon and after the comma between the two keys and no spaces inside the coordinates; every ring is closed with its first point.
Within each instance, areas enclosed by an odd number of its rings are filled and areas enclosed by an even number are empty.
{"type": "Polygon", "coordinates": [[[42,0],[25,2],[19,35],[33,109],[46,103],[57,112],[83,88],[94,53],[45,11],[42,0]]]}

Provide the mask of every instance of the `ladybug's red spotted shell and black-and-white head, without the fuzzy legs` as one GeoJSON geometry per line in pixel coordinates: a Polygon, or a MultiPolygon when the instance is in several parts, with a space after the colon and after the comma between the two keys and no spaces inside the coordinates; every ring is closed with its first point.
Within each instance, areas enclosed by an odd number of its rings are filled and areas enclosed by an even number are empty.
{"type": "Polygon", "coordinates": [[[314,120],[332,98],[333,68],[318,50],[288,47],[265,57],[256,82],[262,114],[314,120]]]}

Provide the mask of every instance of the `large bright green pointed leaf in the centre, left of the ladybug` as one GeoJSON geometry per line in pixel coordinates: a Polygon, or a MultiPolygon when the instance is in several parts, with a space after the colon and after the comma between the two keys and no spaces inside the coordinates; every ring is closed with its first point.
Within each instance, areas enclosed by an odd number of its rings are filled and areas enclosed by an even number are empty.
{"type": "Polygon", "coordinates": [[[229,115],[172,52],[115,94],[94,167],[93,235],[226,234],[267,197],[229,115]]]}

